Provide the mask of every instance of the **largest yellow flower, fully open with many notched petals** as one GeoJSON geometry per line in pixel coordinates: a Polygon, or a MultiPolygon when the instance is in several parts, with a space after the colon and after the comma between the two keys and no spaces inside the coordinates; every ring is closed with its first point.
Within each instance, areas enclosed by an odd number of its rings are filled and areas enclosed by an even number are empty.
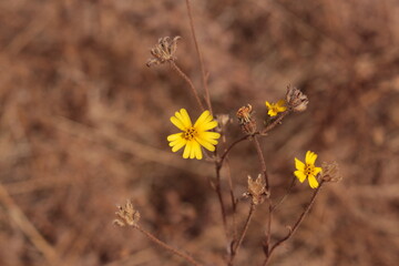
{"type": "Polygon", "coordinates": [[[208,132],[208,130],[217,126],[217,122],[213,119],[209,111],[204,111],[193,125],[187,111],[181,109],[180,112],[176,112],[171,117],[171,122],[182,131],[181,133],[167,136],[172,152],[177,152],[185,146],[183,152],[184,158],[201,160],[203,157],[201,146],[211,152],[215,151],[216,140],[221,137],[221,134],[208,132]]]}

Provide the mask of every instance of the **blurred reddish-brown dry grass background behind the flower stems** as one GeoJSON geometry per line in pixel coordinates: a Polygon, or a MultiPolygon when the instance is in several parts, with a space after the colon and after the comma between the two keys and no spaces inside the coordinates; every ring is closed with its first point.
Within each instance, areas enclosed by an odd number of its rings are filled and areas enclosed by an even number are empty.
{"type": "MultiPolygon", "coordinates": [[[[262,124],[264,101],[288,84],[310,100],[262,140],[274,196],[307,150],[319,163],[337,161],[344,175],[272,265],[397,265],[399,2],[196,0],[193,12],[215,113],[234,116],[250,103],[262,124]]],[[[195,100],[167,65],[145,66],[165,35],[182,37],[177,64],[201,89],[183,0],[0,1],[0,265],[186,265],[112,225],[125,198],[143,227],[224,265],[206,181],[214,166],[183,160],[166,142],[176,131],[168,117],[181,108],[197,116],[195,100]]],[[[239,135],[234,121],[227,142],[239,135]]],[[[238,196],[259,166],[249,143],[231,162],[238,196]]],[[[225,172],[223,182],[227,190],[225,172]]],[[[273,239],[310,193],[297,184],[273,239]]],[[[238,206],[241,227],[247,205],[238,206]]],[[[236,265],[263,260],[265,213],[256,213],[236,265]]]]}

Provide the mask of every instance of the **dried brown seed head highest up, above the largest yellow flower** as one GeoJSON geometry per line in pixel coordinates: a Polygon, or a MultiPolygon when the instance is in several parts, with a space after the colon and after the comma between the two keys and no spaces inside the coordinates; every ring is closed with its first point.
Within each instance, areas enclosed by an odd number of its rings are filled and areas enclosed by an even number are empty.
{"type": "Polygon", "coordinates": [[[180,37],[175,37],[173,40],[171,40],[170,37],[160,38],[158,44],[151,49],[151,54],[154,58],[149,59],[146,65],[150,68],[154,64],[163,64],[167,61],[176,60],[174,54],[177,50],[177,41],[180,39],[180,37]]]}

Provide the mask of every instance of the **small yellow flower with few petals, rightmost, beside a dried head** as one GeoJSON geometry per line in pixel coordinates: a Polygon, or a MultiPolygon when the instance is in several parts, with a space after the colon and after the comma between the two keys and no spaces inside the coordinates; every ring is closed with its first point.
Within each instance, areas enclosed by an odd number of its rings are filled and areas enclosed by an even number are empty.
{"type": "Polygon", "coordinates": [[[310,151],[306,153],[305,163],[295,158],[295,167],[297,168],[297,171],[294,172],[295,176],[298,177],[300,183],[304,183],[304,181],[308,178],[311,188],[318,187],[316,176],[321,172],[321,167],[315,166],[316,158],[317,154],[310,151]]]}

